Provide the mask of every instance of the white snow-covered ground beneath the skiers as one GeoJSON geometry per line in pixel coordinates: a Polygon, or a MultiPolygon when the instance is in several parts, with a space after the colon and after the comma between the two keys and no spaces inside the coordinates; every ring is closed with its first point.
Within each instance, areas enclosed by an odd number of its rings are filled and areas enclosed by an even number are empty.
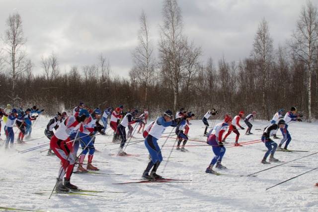
{"type": "MultiPolygon", "coordinates": [[[[192,121],[189,131],[187,149],[189,152],[173,150],[163,173],[174,138],[169,138],[162,149],[163,162],[158,174],[167,178],[191,179],[187,183],[143,183],[114,185],[114,183],[136,181],[140,179],[148,163],[148,151],[143,142],[127,147],[126,152],[139,154],[139,157],[116,157],[119,144],[112,144],[112,136],[98,135],[93,161],[102,173],[122,175],[73,174],[71,182],[80,189],[104,191],[90,193],[99,196],[59,195],[54,194],[49,200],[60,161],[56,156],[47,156],[45,149],[37,149],[25,154],[17,153],[48,142],[44,137],[44,128],[49,118],[41,116],[35,123],[32,138],[27,144],[14,144],[14,149],[0,149],[0,207],[26,209],[34,211],[318,211],[317,170],[268,191],[266,188],[281,181],[299,175],[318,166],[318,154],[288,163],[277,168],[257,174],[257,177],[239,177],[206,174],[213,154],[211,147],[206,146],[202,135],[204,128],[201,120],[192,121]],[[195,140],[195,141],[194,141],[195,140]],[[197,146],[203,145],[203,146],[197,146]]],[[[213,121],[209,120],[210,123],[213,121]]],[[[218,123],[219,121],[216,121],[218,123]]],[[[260,130],[268,122],[255,120],[252,122],[254,135],[244,135],[242,130],[240,142],[258,140],[260,130]]],[[[3,130],[3,129],[2,129],[3,130]]],[[[170,132],[172,127],[166,129],[170,132]]],[[[276,152],[276,158],[290,161],[318,151],[318,123],[292,123],[289,126],[292,142],[289,149],[309,150],[309,152],[276,152]]],[[[15,131],[15,130],[14,130],[15,131]]],[[[108,134],[111,134],[107,130],[108,134]]],[[[1,132],[4,139],[4,133],[1,132]]],[[[167,134],[164,134],[167,135],[167,134]]],[[[135,134],[130,142],[141,140],[142,134],[135,134]]],[[[280,132],[279,137],[282,137],[280,132]]],[[[17,134],[15,134],[15,139],[17,134]]],[[[159,140],[159,146],[166,138],[159,140]]],[[[232,133],[227,141],[233,143],[232,133]]],[[[275,140],[279,142],[280,140],[275,140]]],[[[2,144],[3,141],[0,141],[2,144]]],[[[227,144],[229,145],[229,144],[227,144]]],[[[233,146],[233,145],[231,145],[233,146]]],[[[227,147],[223,165],[228,167],[227,173],[247,175],[276,164],[260,163],[266,147],[263,143],[244,145],[243,147],[227,147]]],[[[87,159],[87,157],[86,157],[87,159]]]]}

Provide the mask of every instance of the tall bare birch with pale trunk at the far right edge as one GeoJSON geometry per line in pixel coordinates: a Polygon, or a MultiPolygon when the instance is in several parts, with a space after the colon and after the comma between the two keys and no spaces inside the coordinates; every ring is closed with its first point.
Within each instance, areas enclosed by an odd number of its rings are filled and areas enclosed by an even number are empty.
{"type": "Polygon", "coordinates": [[[312,121],[312,72],[318,46],[318,13],[311,1],[303,6],[296,30],[292,35],[291,48],[307,68],[308,121],[312,121]]]}

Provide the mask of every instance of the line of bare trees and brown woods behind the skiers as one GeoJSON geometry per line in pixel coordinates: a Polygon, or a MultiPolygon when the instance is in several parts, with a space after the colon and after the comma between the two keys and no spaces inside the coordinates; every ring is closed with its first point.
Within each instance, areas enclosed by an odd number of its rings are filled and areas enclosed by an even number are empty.
{"type": "Polygon", "coordinates": [[[201,47],[183,32],[178,1],[164,0],[159,40],[151,39],[142,11],[129,79],[113,76],[102,53],[96,64],[75,64],[67,73],[60,72],[58,55],[52,53],[41,58],[43,73],[34,75],[24,49],[21,16],[9,15],[6,26],[0,47],[0,106],[37,105],[54,114],[82,101],[101,108],[148,107],[153,117],[167,108],[184,107],[198,118],[216,108],[220,117],[244,110],[256,111],[263,119],[279,108],[296,106],[308,121],[318,118],[318,12],[311,1],[301,9],[284,46],[273,47],[269,23],[263,18],[245,59],[202,62],[201,47]]]}

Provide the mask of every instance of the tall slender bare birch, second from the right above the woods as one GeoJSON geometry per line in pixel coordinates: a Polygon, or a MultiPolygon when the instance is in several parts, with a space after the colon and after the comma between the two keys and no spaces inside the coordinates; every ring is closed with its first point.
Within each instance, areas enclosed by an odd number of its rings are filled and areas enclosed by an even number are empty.
{"type": "Polygon", "coordinates": [[[270,36],[268,23],[265,18],[259,23],[258,29],[253,42],[252,55],[258,64],[260,72],[260,86],[262,93],[262,110],[263,115],[269,119],[266,101],[266,81],[273,55],[273,39],[270,36]]]}

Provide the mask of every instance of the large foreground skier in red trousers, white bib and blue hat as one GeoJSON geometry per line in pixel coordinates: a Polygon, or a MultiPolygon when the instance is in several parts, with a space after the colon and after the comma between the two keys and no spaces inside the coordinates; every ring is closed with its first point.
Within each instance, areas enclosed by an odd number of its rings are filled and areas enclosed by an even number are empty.
{"type": "Polygon", "coordinates": [[[87,121],[89,113],[86,109],[81,109],[77,117],[70,115],[63,123],[60,124],[58,130],[52,136],[50,141],[50,147],[58,158],[62,162],[62,166],[59,171],[59,175],[56,182],[56,192],[68,192],[71,190],[77,190],[78,187],[71,184],[71,175],[73,173],[75,158],[72,154],[73,142],[70,141],[70,133],[78,131],[82,128],[82,123],[87,121]],[[63,177],[64,184],[63,184],[63,177]]]}

